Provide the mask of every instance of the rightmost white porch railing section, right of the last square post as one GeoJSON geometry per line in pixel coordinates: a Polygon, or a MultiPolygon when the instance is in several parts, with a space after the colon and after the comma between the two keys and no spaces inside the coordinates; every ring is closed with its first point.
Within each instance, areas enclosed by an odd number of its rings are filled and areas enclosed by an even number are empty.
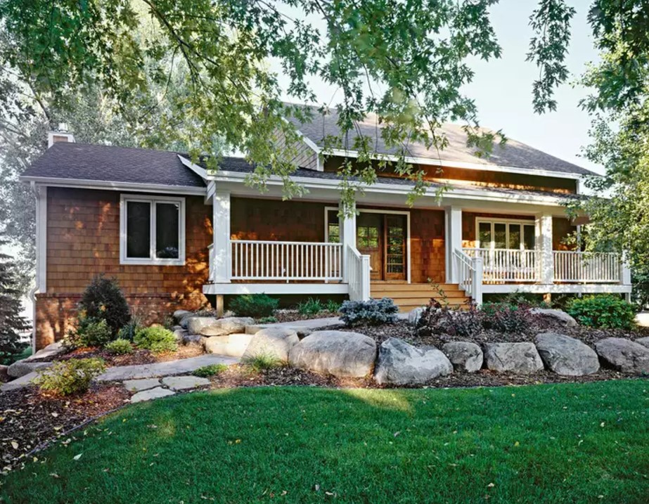
{"type": "Polygon", "coordinates": [[[615,252],[555,250],[552,254],[555,282],[622,282],[622,264],[615,252]]]}

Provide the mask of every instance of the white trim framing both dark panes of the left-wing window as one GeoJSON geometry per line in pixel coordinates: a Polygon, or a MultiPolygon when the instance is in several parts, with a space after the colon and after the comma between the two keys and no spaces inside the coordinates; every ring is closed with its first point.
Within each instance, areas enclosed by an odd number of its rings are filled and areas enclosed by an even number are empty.
{"type": "Polygon", "coordinates": [[[122,194],[120,195],[120,264],[184,266],[185,265],[185,198],[172,198],[164,195],[122,194]],[[150,203],[150,256],[127,257],[127,202],[150,203]],[[155,204],[172,203],[179,205],[178,216],[178,259],[159,259],[155,255],[155,204]]]}

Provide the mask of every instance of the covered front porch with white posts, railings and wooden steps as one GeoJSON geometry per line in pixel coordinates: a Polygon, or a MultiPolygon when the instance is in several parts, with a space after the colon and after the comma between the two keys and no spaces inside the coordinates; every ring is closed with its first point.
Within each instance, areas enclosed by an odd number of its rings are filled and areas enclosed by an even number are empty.
{"type": "Polygon", "coordinates": [[[486,293],[631,290],[618,254],[567,250],[562,239],[572,226],[563,210],[359,201],[356,214],[345,218],[331,200],[285,202],[215,190],[212,202],[217,225],[203,292],[217,301],[255,292],[350,299],[393,292],[406,309],[440,290],[457,304],[467,297],[480,304],[486,293]]]}

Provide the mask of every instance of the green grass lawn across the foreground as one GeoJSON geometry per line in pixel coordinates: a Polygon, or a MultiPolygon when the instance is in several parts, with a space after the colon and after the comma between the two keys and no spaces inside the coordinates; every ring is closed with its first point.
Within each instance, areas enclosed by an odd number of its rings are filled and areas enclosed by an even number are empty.
{"type": "Polygon", "coordinates": [[[648,389],[629,380],[198,392],[86,427],[8,474],[0,495],[75,504],[645,504],[648,389]]]}

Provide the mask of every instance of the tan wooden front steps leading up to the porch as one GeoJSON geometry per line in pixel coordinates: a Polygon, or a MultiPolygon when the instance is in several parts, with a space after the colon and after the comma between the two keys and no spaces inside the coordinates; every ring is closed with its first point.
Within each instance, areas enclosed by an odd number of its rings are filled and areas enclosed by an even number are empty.
{"type": "MultiPolygon", "coordinates": [[[[435,287],[444,291],[445,300],[450,307],[467,306],[470,302],[470,298],[456,283],[438,284],[435,287]]],[[[430,298],[437,299],[442,304],[444,300],[442,293],[429,283],[371,282],[370,296],[376,299],[391,297],[402,313],[428,304],[430,298]]]]}

